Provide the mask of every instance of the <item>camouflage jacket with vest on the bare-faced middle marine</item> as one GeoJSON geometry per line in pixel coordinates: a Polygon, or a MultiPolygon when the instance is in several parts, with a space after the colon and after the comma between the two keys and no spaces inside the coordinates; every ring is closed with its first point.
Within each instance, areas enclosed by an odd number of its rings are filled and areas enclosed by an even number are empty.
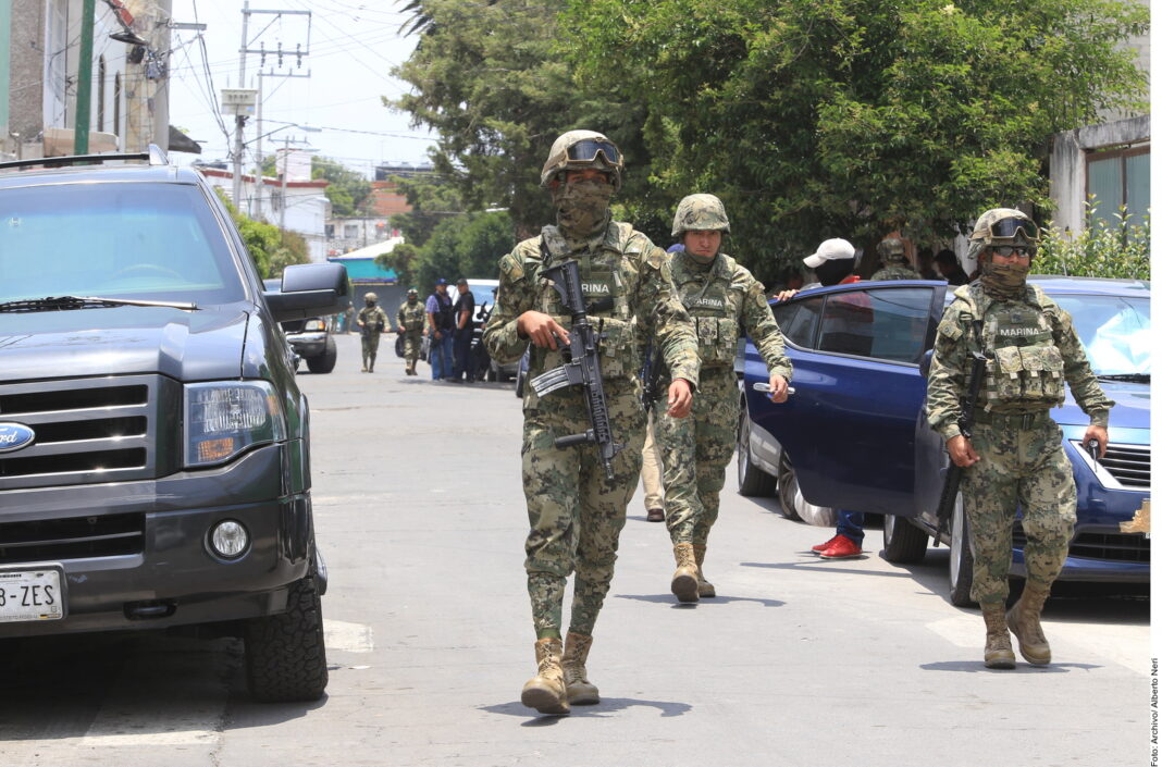
{"type": "Polygon", "coordinates": [[[762,284],[726,253],[700,264],[684,250],[670,258],[679,300],[694,321],[702,368],[733,370],[738,339],[749,334],[772,373],[791,379],[783,334],[770,313],[762,284]]]}

